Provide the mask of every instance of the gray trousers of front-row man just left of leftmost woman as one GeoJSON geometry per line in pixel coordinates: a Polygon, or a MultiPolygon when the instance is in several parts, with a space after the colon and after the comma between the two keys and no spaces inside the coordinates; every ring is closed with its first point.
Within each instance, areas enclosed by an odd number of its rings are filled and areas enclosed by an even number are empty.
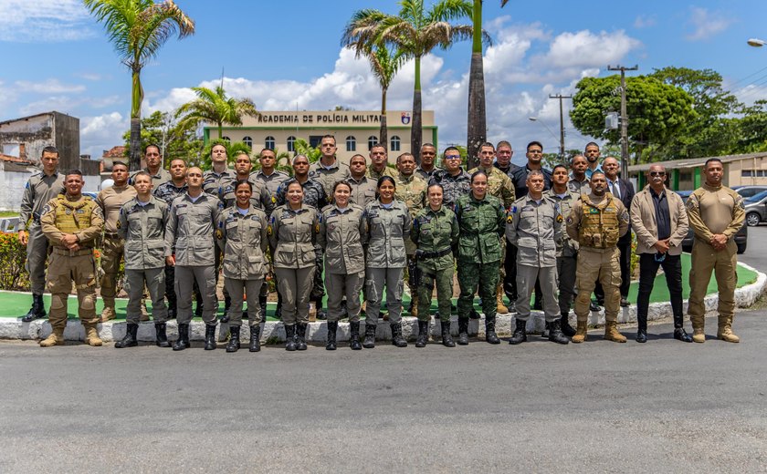
{"type": "Polygon", "coordinates": [[[203,294],[203,321],[215,325],[215,265],[175,265],[176,321],[188,325],[192,321],[192,296],[194,283],[203,294]]]}

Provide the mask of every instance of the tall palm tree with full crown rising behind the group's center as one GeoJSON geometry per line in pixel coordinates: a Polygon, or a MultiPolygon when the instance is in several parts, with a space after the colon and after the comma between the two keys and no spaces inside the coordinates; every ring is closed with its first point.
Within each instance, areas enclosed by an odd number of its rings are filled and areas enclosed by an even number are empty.
{"type": "Polygon", "coordinates": [[[411,152],[420,163],[421,150],[421,57],[436,46],[447,49],[458,40],[472,36],[471,25],[452,25],[450,21],[471,17],[473,5],[468,0],[439,0],[426,10],[424,0],[400,0],[399,15],[386,15],[373,9],[358,10],[346,25],[341,44],[360,54],[375,45],[394,46],[415,62],[413,125],[410,131],[411,152]]]}

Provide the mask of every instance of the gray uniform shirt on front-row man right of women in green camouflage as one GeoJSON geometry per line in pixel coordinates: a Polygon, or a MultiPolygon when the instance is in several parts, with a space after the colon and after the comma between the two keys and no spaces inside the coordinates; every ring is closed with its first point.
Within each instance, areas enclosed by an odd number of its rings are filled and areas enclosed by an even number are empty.
{"type": "Polygon", "coordinates": [[[562,212],[548,196],[535,201],[530,196],[514,201],[506,224],[506,237],[517,246],[520,265],[557,265],[557,247],[562,245],[562,212]]]}

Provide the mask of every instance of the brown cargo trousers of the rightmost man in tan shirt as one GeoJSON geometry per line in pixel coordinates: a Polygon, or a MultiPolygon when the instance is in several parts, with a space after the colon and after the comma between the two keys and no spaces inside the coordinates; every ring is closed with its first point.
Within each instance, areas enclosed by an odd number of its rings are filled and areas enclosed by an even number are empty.
{"type": "Polygon", "coordinates": [[[719,287],[719,306],[717,311],[720,318],[735,316],[735,286],[737,284],[736,268],[738,265],[738,246],[730,239],[724,250],[717,252],[706,242],[695,240],[692,245],[692,269],[689,273],[689,305],[688,314],[693,329],[702,329],[706,308],[703,299],[714,272],[719,287]]]}

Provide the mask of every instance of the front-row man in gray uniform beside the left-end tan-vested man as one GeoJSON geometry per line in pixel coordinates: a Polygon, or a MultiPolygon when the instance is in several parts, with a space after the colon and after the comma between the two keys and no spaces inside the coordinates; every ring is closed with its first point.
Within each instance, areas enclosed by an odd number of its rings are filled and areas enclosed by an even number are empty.
{"type": "Polygon", "coordinates": [[[136,334],[141,319],[143,288],[152,298],[155,344],[170,347],[165,332],[168,309],[165,306],[165,226],[168,223],[168,205],[152,196],[152,176],[139,171],[133,177],[136,196],[121,206],[117,232],[125,249],[125,291],[128,323],[125,337],[115,347],[138,345],[136,334]]]}

